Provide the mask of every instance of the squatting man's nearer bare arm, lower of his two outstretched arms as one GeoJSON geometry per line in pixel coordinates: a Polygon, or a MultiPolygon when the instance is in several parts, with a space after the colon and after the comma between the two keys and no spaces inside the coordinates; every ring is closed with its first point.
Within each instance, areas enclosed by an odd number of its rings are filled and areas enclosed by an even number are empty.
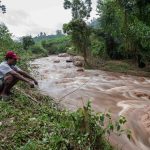
{"type": "Polygon", "coordinates": [[[34,87],[34,83],[32,83],[30,80],[28,80],[27,78],[24,78],[22,75],[20,75],[19,73],[17,73],[16,71],[10,71],[10,74],[13,75],[14,77],[16,77],[19,80],[22,80],[24,82],[27,82],[31,87],[34,87]]]}

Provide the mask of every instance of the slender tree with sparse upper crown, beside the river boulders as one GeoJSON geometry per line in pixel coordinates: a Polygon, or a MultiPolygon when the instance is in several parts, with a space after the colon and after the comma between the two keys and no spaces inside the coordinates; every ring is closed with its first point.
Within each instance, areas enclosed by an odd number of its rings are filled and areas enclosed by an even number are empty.
{"type": "Polygon", "coordinates": [[[74,46],[83,53],[86,62],[90,29],[85,19],[90,17],[91,4],[91,0],[64,0],[64,8],[71,9],[72,12],[72,20],[68,24],[63,25],[64,33],[71,35],[74,46]]]}

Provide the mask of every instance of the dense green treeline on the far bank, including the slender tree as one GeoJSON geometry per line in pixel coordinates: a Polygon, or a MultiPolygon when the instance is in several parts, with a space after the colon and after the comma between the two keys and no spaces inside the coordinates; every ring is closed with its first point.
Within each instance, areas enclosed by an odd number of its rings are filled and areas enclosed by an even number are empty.
{"type": "Polygon", "coordinates": [[[72,20],[64,24],[64,32],[71,35],[73,45],[85,59],[87,53],[107,55],[111,59],[133,59],[139,67],[150,61],[149,0],[98,0],[96,28],[86,23],[90,0],[65,0],[64,8],[72,11],[72,20]]]}

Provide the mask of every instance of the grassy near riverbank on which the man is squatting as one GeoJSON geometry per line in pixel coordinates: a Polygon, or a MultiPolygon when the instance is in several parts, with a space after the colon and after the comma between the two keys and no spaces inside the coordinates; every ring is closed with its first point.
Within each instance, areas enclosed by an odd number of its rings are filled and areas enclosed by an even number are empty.
{"type": "MultiPolygon", "coordinates": [[[[21,56],[19,66],[24,70],[30,60],[39,57],[28,52],[21,56]]],[[[0,150],[113,149],[90,105],[69,112],[22,82],[13,92],[8,101],[0,101],[0,150]]]]}

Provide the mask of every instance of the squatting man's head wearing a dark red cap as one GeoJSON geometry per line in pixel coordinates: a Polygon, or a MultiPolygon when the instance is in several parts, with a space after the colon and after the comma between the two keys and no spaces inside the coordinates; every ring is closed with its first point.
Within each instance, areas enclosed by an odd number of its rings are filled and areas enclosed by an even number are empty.
{"type": "Polygon", "coordinates": [[[8,51],[5,55],[5,59],[9,65],[15,65],[19,57],[13,51],[8,51]]]}

